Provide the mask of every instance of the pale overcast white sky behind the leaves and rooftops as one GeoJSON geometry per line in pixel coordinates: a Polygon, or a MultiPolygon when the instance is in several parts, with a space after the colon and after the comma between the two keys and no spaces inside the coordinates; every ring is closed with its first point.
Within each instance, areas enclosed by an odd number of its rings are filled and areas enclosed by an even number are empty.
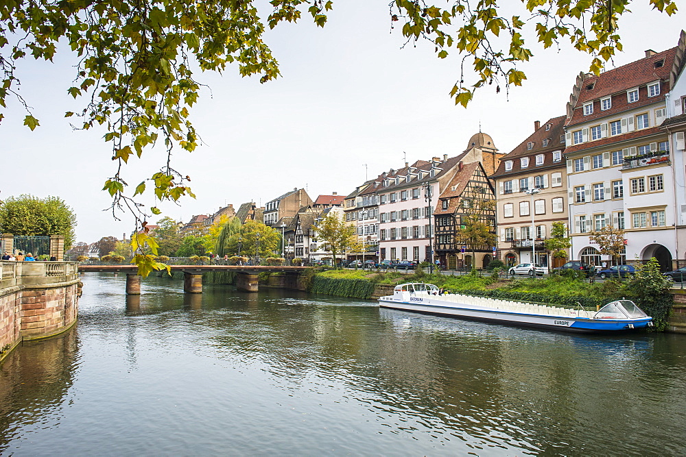
{"type": "MultiPolygon", "coordinates": [[[[643,58],[646,49],[676,46],[684,14],[669,18],[647,4],[633,5],[634,13],[619,24],[624,53],[614,66],[643,58]]],[[[494,84],[464,109],[448,93],[460,59],[439,60],[433,47],[421,43],[401,49],[399,30],[390,33],[388,1],[338,0],[324,29],[303,19],[277,27],[266,40],[281,66],[277,81],[259,84],[258,77],[239,77],[235,67],[224,75],[198,74],[209,88],[191,120],[204,144],[174,156],[176,169],[191,176],[197,199],[165,204],[163,215],[187,221],[226,203],[263,205],[296,187],[306,188],[312,199],[346,195],[366,176],[403,166],[403,152],[410,163],[456,156],[480,123],[508,152],[533,132],[534,121],[565,114],[576,75],[591,62],[567,42],[559,51],[543,50],[530,38],[534,58],[521,67],[525,85],[496,94],[494,84]]],[[[82,108],[67,94],[73,58],[23,64],[21,93],[40,127],[31,132],[22,125],[25,112],[16,102],[5,110],[0,199],[22,193],[61,197],[77,214],[79,241],[130,233],[130,217],[123,214],[117,222],[103,211],[110,198],[100,189],[115,170],[104,132],[74,131],[64,119],[65,111],[82,108]]],[[[125,179],[134,188],[162,164],[161,148],[147,151],[143,159],[130,160],[125,179]]],[[[143,202],[154,204],[150,197],[143,202]]]]}

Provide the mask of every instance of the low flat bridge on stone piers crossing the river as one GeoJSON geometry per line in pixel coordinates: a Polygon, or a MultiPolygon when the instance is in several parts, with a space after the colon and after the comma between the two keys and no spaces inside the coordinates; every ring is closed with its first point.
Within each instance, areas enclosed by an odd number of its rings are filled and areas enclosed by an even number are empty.
{"type": "MultiPolygon", "coordinates": [[[[272,267],[267,265],[169,265],[172,271],[183,272],[183,291],[185,293],[202,293],[202,273],[209,271],[233,271],[237,273],[236,288],[240,291],[257,292],[257,275],[259,273],[285,273],[283,284],[272,284],[274,286],[285,286],[287,282],[297,279],[307,267],[272,267]]],[[[141,277],[137,274],[136,265],[91,265],[80,264],[79,271],[102,271],[110,273],[126,273],[126,293],[128,295],[139,295],[141,293],[141,277]]]]}

